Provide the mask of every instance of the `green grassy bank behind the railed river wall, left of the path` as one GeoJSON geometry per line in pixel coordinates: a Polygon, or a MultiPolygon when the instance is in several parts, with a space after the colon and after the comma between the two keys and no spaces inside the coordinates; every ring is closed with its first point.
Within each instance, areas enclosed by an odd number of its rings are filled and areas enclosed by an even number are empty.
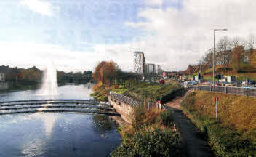
{"type": "Polygon", "coordinates": [[[125,94],[136,100],[156,101],[161,100],[163,103],[172,100],[174,97],[184,94],[185,90],[180,88],[179,84],[151,84],[148,82],[127,81],[124,85],[119,85],[118,89],[114,86],[103,86],[96,84],[93,87],[94,93],[91,94],[95,100],[107,101],[110,91],[118,94],[125,94]]]}

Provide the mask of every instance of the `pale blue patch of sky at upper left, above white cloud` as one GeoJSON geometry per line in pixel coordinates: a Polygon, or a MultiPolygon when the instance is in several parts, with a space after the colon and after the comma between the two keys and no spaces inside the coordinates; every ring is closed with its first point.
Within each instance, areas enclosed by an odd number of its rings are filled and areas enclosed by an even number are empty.
{"type": "MultiPolygon", "coordinates": [[[[30,1],[33,0],[28,3],[30,1]]],[[[91,44],[120,44],[135,36],[146,36],[142,29],[124,25],[127,21],[145,20],[137,17],[138,11],[146,7],[144,1],[40,1],[55,7],[52,15],[31,10],[22,0],[3,0],[0,40],[58,44],[73,50],[92,51],[91,44]]],[[[162,7],[167,5],[172,4],[162,7]]]]}

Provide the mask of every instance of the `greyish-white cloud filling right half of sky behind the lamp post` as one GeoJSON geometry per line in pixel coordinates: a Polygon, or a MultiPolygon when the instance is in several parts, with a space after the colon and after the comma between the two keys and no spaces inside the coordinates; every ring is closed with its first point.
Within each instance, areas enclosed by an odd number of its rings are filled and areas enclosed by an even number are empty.
{"type": "Polygon", "coordinates": [[[144,43],[146,61],[160,63],[167,70],[184,69],[197,63],[213,45],[213,29],[228,28],[221,36],[247,36],[256,32],[256,1],[184,0],[183,8],[145,8],[138,17],[143,22],[127,22],[153,36],[144,43]]]}

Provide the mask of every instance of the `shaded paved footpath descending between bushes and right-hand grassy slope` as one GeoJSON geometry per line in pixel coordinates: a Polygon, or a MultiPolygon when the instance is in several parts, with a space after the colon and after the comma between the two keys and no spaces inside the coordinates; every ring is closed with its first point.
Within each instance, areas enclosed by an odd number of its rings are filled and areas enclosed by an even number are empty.
{"type": "Polygon", "coordinates": [[[208,143],[204,140],[203,134],[193,125],[193,123],[180,110],[180,102],[183,97],[177,97],[165,106],[169,110],[174,110],[174,122],[179,130],[185,145],[187,156],[190,157],[207,157],[214,156],[208,143]]]}

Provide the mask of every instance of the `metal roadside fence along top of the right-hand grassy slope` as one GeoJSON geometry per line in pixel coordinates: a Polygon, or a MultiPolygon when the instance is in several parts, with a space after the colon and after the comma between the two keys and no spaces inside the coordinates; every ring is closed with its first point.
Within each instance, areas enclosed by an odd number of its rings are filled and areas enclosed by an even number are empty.
{"type": "Polygon", "coordinates": [[[189,86],[188,88],[195,90],[203,90],[210,92],[220,92],[225,94],[237,94],[247,97],[256,97],[256,88],[228,87],[228,86],[189,86]]]}

